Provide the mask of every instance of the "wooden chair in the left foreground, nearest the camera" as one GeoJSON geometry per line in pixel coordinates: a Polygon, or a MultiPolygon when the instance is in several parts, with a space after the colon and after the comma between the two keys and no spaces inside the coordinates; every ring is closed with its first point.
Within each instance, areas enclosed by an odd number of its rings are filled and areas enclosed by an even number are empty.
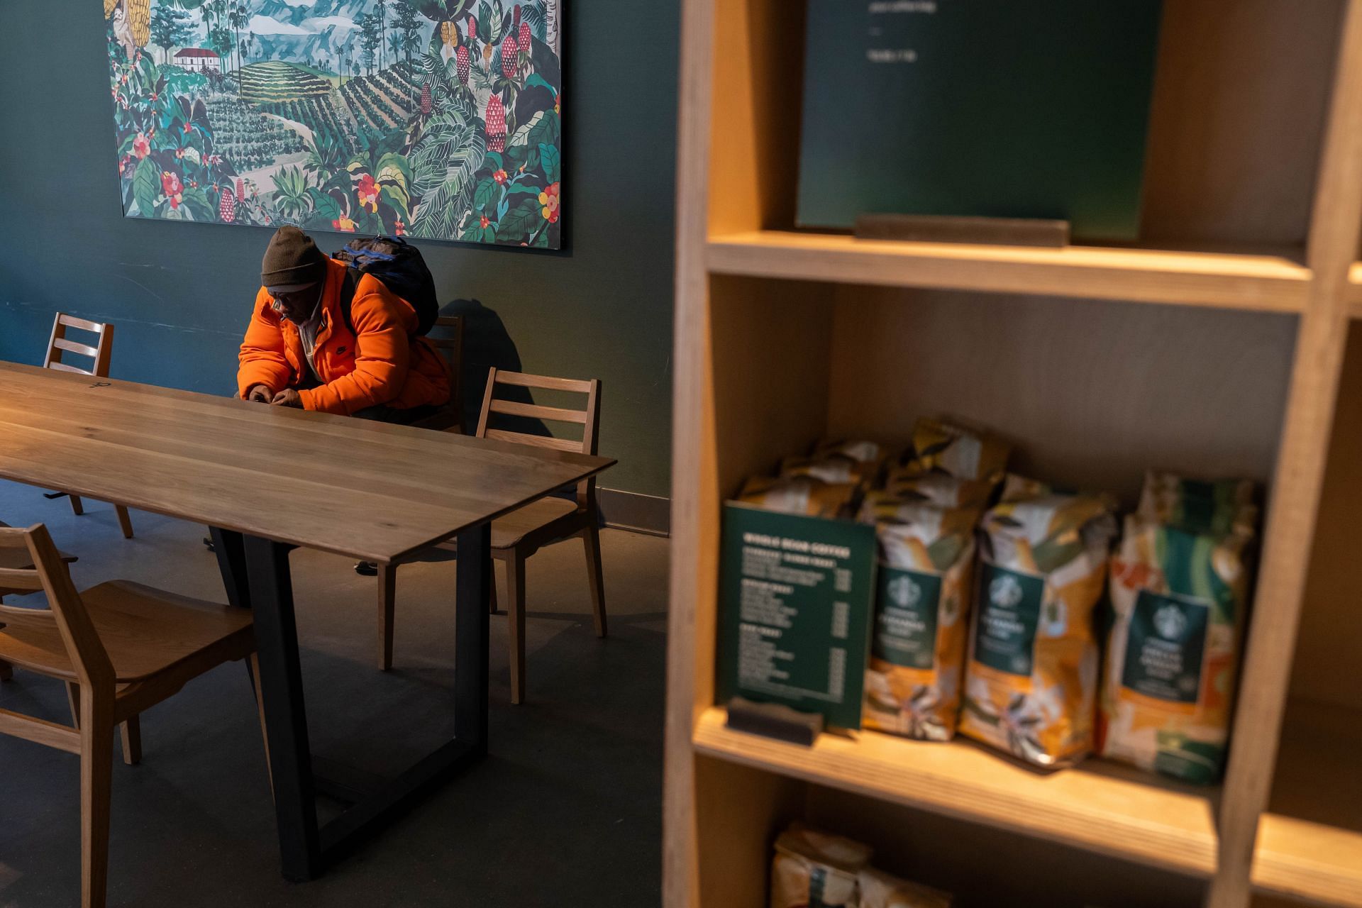
{"type": "Polygon", "coordinates": [[[76,716],[67,727],[0,709],[0,734],[80,754],[80,905],[102,908],[114,726],[136,732],[143,711],[222,663],[249,659],[255,671],[251,613],[125,580],[76,592],[42,524],[0,528],[5,550],[33,566],[0,568],[0,587],[41,589],[48,609],[0,606],[0,659],[65,681],[76,716]]]}

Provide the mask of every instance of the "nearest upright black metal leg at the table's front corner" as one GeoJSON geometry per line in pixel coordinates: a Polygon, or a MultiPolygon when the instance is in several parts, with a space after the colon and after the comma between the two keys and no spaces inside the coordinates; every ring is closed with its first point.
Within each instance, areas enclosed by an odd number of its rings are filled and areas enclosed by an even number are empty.
{"type": "Polygon", "coordinates": [[[298,628],[293,615],[289,546],[245,538],[251,606],[260,651],[260,690],[270,735],[274,814],[279,825],[283,877],[293,882],[321,873],[316,785],[308,746],[308,713],[302,700],[298,628]]]}

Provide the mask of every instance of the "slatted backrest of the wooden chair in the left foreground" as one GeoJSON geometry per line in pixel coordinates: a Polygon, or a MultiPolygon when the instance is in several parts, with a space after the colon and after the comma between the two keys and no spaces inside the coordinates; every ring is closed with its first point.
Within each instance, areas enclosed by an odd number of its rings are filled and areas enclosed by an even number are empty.
{"type": "Polygon", "coordinates": [[[46,609],[18,609],[0,604],[0,626],[19,630],[56,629],[67,647],[67,656],[75,666],[80,683],[99,689],[113,685],[113,664],[90,621],[90,613],[80,602],[80,594],[71,583],[71,572],[61,553],[52,545],[48,528],[41,523],[27,530],[0,527],[0,549],[27,549],[31,568],[0,568],[0,587],[23,589],[48,596],[46,609]]]}

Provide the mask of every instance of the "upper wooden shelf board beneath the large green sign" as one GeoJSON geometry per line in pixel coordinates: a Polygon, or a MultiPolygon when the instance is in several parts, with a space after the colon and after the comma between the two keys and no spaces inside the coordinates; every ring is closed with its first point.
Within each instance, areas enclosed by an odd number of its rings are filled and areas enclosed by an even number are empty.
{"type": "Polygon", "coordinates": [[[1106,246],[1032,249],[757,230],[711,236],[711,272],[1301,312],[1310,270],[1290,255],[1106,246]]]}

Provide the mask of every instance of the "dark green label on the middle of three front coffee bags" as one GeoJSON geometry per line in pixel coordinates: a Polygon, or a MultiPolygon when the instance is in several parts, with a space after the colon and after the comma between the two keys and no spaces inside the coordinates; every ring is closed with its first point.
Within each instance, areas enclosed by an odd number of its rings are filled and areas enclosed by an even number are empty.
{"type": "Polygon", "coordinates": [[[974,659],[1009,675],[1030,675],[1035,629],[1045,599],[1045,577],[983,564],[974,659]]]}

